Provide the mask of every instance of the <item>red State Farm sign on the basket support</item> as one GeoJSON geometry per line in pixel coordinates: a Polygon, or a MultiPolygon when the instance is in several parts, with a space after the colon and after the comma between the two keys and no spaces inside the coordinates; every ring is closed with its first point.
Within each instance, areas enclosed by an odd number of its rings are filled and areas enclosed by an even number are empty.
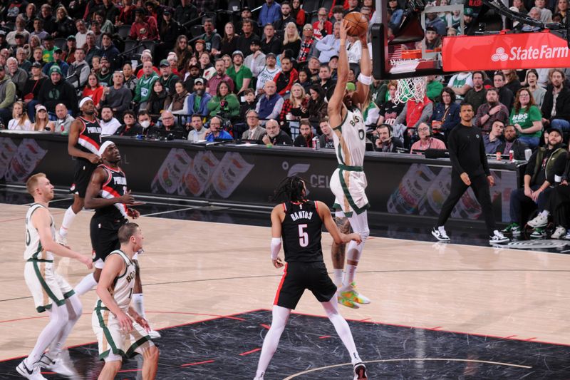
{"type": "Polygon", "coordinates": [[[443,38],[443,71],[570,67],[565,39],[549,31],[443,38]]]}

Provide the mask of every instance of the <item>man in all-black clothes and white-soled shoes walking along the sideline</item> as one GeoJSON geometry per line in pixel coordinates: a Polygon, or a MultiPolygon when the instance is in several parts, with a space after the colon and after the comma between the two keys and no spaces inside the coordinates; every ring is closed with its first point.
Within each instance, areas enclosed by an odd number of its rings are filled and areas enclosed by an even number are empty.
{"type": "Polygon", "coordinates": [[[494,224],[489,192],[489,185],[494,185],[494,179],[489,171],[481,130],[472,123],[473,107],[468,103],[463,103],[460,117],[461,123],[453,128],[447,137],[447,148],[452,165],[451,191],[443,203],[437,227],[433,228],[432,235],[440,242],[451,241],[445,232],[445,222],[449,219],[453,207],[471,186],[483,211],[485,225],[489,232],[489,244],[508,242],[509,239],[502,235],[494,224]]]}

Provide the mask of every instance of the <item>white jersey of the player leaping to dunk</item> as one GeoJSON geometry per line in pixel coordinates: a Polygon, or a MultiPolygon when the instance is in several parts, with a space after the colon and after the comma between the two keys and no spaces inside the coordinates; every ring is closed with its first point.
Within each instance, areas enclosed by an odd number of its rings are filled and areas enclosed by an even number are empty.
{"type": "Polygon", "coordinates": [[[366,152],[366,125],[364,125],[361,111],[346,110],[346,117],[340,126],[333,128],[333,132],[338,163],[347,166],[362,166],[366,152]]]}

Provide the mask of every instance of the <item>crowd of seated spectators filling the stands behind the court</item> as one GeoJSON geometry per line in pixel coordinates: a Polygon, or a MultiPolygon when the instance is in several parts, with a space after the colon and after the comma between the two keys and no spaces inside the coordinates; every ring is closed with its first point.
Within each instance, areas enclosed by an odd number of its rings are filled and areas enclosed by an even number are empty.
{"type": "MultiPolygon", "coordinates": [[[[567,0],[527,3],[514,0],[513,6],[529,13],[539,9],[546,21],[557,16],[566,21],[567,0]]],[[[215,13],[220,4],[2,2],[1,128],[66,133],[78,115],[78,100],[90,96],[105,135],[301,147],[311,147],[318,137],[321,147],[332,148],[326,102],[336,86],[339,23],[350,11],[361,11],[373,22],[375,2],[333,1],[330,9],[309,13],[299,0],[265,0],[253,11],[242,6],[222,12],[225,20],[215,13]]],[[[447,0],[437,5],[447,5],[447,0]]],[[[390,34],[404,6],[405,1],[388,2],[390,34]]],[[[465,25],[473,16],[465,8],[465,25]]],[[[462,33],[456,12],[426,17],[422,43],[428,48],[437,49],[442,36],[462,33]]],[[[361,42],[349,37],[346,48],[351,93],[361,42]]],[[[535,149],[544,144],[541,135],[549,127],[570,132],[566,70],[428,76],[423,99],[407,101],[396,100],[398,86],[398,81],[374,80],[368,99],[348,105],[362,110],[369,150],[445,148],[447,135],[460,121],[461,102],[472,105],[487,153],[500,148],[508,154],[513,140],[535,149]]]]}

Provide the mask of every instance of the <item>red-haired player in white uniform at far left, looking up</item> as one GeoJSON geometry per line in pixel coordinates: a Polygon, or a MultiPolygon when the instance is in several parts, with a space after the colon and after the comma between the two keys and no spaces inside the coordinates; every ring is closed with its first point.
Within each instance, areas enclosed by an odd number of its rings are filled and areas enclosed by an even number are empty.
{"type": "Polygon", "coordinates": [[[63,343],[81,317],[81,301],[68,282],[53,267],[53,255],[71,257],[93,268],[93,260],[56,243],[56,225],[48,210],[53,185],[46,175],[32,175],[26,183],[33,203],[26,214],[26,251],[24,278],[38,312],[49,313],[49,323],[40,333],[36,346],[16,367],[22,376],[45,380],[41,367],[64,376],[76,376],[60,357],[63,343]],[[48,349],[49,348],[49,349],[48,349]],[[44,351],[47,352],[44,353],[44,351]]]}

